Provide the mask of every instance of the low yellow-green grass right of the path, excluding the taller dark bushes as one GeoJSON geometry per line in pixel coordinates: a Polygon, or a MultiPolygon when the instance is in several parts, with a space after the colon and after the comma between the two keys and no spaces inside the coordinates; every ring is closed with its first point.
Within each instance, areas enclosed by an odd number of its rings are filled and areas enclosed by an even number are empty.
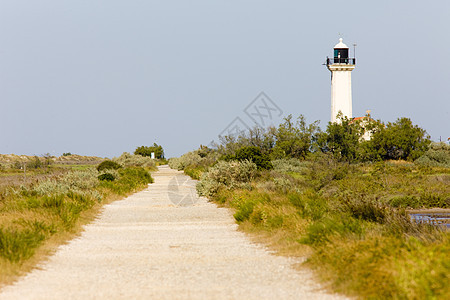
{"type": "Polygon", "coordinates": [[[274,170],[244,183],[234,175],[242,170],[222,164],[186,173],[233,210],[242,230],[282,255],[306,256],[332,290],[367,299],[450,298],[450,233],[406,212],[450,208],[450,169],[322,156],[274,161],[274,170]]]}

